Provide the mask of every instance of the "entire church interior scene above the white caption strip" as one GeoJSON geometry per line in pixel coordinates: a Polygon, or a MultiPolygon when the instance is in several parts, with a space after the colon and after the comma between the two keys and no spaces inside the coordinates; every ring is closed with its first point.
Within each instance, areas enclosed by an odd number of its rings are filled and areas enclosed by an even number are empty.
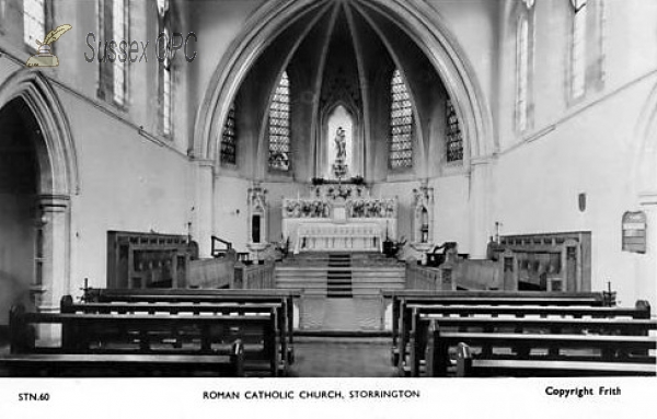
{"type": "Polygon", "coordinates": [[[656,375],[656,37],[653,0],[0,0],[0,375],[656,375]]]}

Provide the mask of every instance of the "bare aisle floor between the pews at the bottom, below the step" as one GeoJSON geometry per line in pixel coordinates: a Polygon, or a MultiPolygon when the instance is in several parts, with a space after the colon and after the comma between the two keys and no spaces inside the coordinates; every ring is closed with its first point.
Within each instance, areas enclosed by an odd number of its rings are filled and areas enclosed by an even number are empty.
{"type": "Polygon", "coordinates": [[[290,376],[393,377],[389,338],[299,338],[290,376]]]}

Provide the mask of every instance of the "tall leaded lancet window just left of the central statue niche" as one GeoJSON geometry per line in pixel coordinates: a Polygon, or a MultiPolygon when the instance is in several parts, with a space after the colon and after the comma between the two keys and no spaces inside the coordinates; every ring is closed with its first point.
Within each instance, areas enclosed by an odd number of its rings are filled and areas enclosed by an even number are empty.
{"type": "Polygon", "coordinates": [[[269,168],[290,170],[290,81],[287,71],[276,84],[269,105],[269,168]]]}

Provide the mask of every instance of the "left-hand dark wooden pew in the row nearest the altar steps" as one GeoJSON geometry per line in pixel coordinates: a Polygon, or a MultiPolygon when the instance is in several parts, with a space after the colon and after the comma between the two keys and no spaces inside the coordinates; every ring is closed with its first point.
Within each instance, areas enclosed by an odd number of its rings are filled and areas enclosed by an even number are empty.
{"type": "Polygon", "coordinates": [[[217,290],[217,289],[87,289],[83,295],[85,302],[96,303],[237,303],[263,304],[281,303],[278,312],[279,329],[286,338],[287,364],[295,362],[295,299],[301,296],[300,290],[217,290]]]}

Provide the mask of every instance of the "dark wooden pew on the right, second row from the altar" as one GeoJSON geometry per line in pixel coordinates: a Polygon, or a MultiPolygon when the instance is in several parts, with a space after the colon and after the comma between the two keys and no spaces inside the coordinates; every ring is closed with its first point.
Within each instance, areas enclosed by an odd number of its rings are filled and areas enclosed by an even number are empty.
{"type": "MultiPolygon", "coordinates": [[[[528,333],[541,333],[564,336],[567,334],[597,333],[646,337],[648,330],[656,328],[655,321],[649,319],[649,305],[645,302],[637,302],[637,305],[633,309],[532,305],[410,305],[408,307],[412,310],[408,333],[401,335],[402,337],[408,337],[408,350],[405,352],[408,353],[408,362],[406,363],[405,359],[400,360],[399,371],[401,375],[410,373],[412,376],[418,376],[420,362],[425,359],[425,350],[430,346],[428,341],[433,337],[428,330],[431,321],[436,321],[437,325],[440,326],[440,333],[445,331],[445,328],[449,333],[452,333],[453,329],[458,333],[469,333],[474,328],[482,334],[525,333],[527,335],[528,333]]],[[[555,341],[558,342],[558,339],[555,338],[555,341]]],[[[400,339],[400,345],[405,345],[405,342],[404,338],[400,339]]],[[[468,344],[468,341],[465,342],[468,344]]],[[[532,349],[523,347],[521,342],[516,344],[510,345],[510,347],[518,354],[527,354],[532,349]]],[[[638,349],[642,349],[642,347],[639,346],[638,349]]],[[[440,351],[440,349],[436,350],[440,351]]],[[[555,356],[557,352],[554,347],[551,347],[549,354],[555,356]]],[[[488,357],[492,354],[493,349],[491,346],[482,348],[482,356],[488,357]]],[[[440,357],[442,354],[438,356],[438,358],[440,357]]]]}

